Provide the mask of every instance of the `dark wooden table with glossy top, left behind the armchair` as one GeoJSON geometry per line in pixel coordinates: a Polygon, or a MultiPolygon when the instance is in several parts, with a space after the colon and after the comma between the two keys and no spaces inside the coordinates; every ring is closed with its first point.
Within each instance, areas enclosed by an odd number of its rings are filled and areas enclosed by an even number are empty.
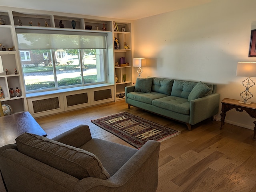
{"type": "Polygon", "coordinates": [[[0,147],[16,143],[16,137],[25,132],[47,136],[29,112],[0,117],[0,147]]]}

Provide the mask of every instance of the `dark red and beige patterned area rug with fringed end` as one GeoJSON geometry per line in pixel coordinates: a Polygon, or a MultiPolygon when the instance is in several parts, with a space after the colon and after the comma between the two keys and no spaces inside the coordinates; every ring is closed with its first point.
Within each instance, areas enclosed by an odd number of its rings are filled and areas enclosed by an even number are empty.
{"type": "Polygon", "coordinates": [[[175,131],[127,112],[91,120],[91,122],[120,137],[137,149],[148,140],[161,142],[180,134],[180,131],[175,131]]]}

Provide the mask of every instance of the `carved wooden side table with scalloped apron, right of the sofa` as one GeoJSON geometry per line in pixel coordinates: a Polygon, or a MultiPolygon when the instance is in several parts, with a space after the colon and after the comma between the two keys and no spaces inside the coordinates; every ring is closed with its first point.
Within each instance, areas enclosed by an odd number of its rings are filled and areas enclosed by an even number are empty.
{"type": "MultiPolygon", "coordinates": [[[[222,113],[220,114],[221,119],[221,125],[220,125],[220,129],[222,130],[222,125],[224,125],[225,123],[225,117],[226,117],[226,112],[235,108],[236,111],[238,112],[242,112],[242,111],[246,111],[252,118],[256,119],[256,103],[252,103],[252,104],[243,104],[243,103],[239,103],[239,100],[236,99],[228,99],[228,98],[224,98],[222,100],[222,108],[221,111],[222,113]]],[[[256,135],[256,121],[253,122],[254,123],[254,135],[253,135],[253,140],[256,140],[255,135],[256,135]]]]}

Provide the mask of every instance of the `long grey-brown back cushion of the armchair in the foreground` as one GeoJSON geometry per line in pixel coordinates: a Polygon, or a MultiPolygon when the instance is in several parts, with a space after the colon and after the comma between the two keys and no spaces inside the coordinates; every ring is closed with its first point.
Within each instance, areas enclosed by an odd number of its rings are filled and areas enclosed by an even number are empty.
{"type": "Polygon", "coordinates": [[[107,179],[110,174],[92,153],[32,133],[16,139],[18,151],[78,179],[107,179]]]}

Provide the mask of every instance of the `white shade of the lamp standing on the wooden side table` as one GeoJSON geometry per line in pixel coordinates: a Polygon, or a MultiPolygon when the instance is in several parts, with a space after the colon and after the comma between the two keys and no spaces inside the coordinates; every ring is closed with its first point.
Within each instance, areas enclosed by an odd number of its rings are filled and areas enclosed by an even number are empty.
{"type": "Polygon", "coordinates": [[[256,77],[256,62],[238,62],[236,76],[256,77]]]}

